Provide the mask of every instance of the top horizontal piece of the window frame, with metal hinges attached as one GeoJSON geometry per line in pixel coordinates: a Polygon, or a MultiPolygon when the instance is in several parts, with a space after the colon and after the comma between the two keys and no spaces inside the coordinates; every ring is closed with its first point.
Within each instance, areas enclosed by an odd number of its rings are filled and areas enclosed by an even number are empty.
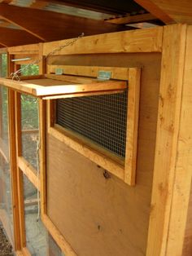
{"type": "Polygon", "coordinates": [[[55,73],[56,68],[63,69],[63,74],[98,77],[98,71],[110,71],[111,79],[127,80],[129,68],[118,67],[90,67],[90,66],[70,66],[70,65],[47,65],[47,73],[55,73]]]}

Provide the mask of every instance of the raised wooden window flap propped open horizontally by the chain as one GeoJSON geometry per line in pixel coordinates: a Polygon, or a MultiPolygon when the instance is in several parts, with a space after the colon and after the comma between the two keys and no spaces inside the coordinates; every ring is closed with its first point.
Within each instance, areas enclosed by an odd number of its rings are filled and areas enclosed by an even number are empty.
{"type": "Polygon", "coordinates": [[[0,84],[43,99],[57,99],[57,96],[61,98],[65,97],[65,95],[76,97],[80,94],[114,93],[127,88],[127,82],[124,81],[110,80],[101,82],[95,78],[64,75],[20,77],[20,81],[0,78],[0,84]]]}

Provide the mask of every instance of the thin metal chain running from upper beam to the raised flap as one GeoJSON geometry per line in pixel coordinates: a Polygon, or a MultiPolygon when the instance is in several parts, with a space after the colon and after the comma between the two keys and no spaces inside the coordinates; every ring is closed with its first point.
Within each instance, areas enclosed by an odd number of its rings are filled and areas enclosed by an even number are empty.
{"type": "MultiPolygon", "coordinates": [[[[78,36],[77,38],[72,38],[72,40],[66,42],[64,45],[56,47],[53,51],[50,51],[50,52],[45,56],[45,60],[46,60],[50,55],[54,55],[55,52],[61,51],[63,48],[68,47],[68,46],[71,46],[72,44],[74,44],[74,42],[76,42],[78,39],[83,38],[83,37],[84,37],[84,33],[81,33],[81,35],[78,36]]],[[[30,66],[32,66],[32,65],[34,65],[34,64],[39,64],[42,59],[43,59],[43,56],[41,56],[41,58],[39,58],[38,60],[34,60],[32,63],[29,63],[29,64],[25,65],[24,68],[20,68],[20,69],[16,70],[14,73],[11,73],[12,80],[20,81],[20,75],[24,72],[24,70],[28,69],[28,67],[30,67],[30,66]]]]}

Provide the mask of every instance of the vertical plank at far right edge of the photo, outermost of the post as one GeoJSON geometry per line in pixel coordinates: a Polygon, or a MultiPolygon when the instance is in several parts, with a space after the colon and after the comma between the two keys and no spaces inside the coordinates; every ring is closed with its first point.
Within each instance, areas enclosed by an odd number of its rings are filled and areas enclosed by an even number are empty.
{"type": "Polygon", "coordinates": [[[172,212],[169,221],[166,255],[192,254],[191,179],[192,179],[192,26],[187,27],[185,67],[181,98],[180,130],[173,187],[172,212]],[[189,209],[188,209],[189,207],[189,209]],[[187,216],[188,215],[188,216],[187,216]]]}

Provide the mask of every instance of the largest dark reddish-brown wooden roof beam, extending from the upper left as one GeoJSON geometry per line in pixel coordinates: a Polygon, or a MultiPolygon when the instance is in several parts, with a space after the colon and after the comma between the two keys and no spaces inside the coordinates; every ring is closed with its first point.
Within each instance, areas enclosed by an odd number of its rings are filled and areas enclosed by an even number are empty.
{"type": "Polygon", "coordinates": [[[0,4],[0,13],[3,19],[19,25],[28,33],[44,41],[74,38],[82,32],[85,35],[94,35],[122,30],[121,26],[107,24],[104,21],[3,3],[0,4]]]}

